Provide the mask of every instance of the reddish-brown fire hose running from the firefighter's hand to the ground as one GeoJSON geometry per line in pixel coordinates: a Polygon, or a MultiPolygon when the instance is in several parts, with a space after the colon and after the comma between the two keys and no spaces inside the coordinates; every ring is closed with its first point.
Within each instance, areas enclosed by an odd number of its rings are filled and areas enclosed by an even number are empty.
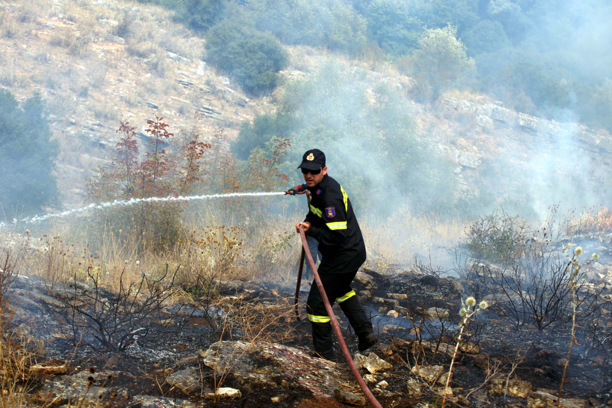
{"type": "Polygon", "coordinates": [[[325,310],[327,311],[327,315],[330,318],[330,322],[332,324],[332,328],[334,329],[334,333],[336,338],[338,338],[338,343],[340,343],[340,349],[346,362],[351,368],[351,373],[357,380],[357,384],[364,394],[370,404],[375,408],[383,408],[380,402],[376,401],[376,397],[370,391],[367,385],[365,385],[364,379],[362,379],[361,374],[359,374],[359,370],[351,357],[351,353],[348,351],[348,347],[346,347],[346,343],[342,336],[342,332],[340,332],[340,326],[336,321],[336,317],[334,315],[334,311],[332,310],[332,305],[329,304],[329,299],[327,299],[327,294],[325,293],[325,289],[323,288],[323,283],[321,283],[321,278],[319,278],[319,272],[316,270],[315,262],[312,259],[312,255],[310,254],[310,250],[308,249],[308,243],[306,242],[306,234],[304,234],[304,227],[300,226],[300,236],[302,237],[302,254],[300,255],[300,267],[299,272],[297,272],[297,286],[296,286],[296,295],[295,295],[295,311],[297,319],[299,320],[299,313],[297,311],[297,301],[300,295],[300,283],[302,282],[302,269],[304,268],[304,258],[308,258],[308,263],[310,264],[310,269],[312,269],[312,274],[315,276],[316,286],[319,288],[319,292],[321,293],[321,297],[323,297],[323,303],[325,303],[325,310]]]}

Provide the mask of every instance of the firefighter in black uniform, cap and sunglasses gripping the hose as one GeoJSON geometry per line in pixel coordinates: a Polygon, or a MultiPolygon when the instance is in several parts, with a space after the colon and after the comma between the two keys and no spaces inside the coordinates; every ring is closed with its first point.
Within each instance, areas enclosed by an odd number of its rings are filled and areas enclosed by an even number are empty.
{"type": "MultiPolygon", "coordinates": [[[[323,259],[318,272],[330,304],[337,302],[348,317],[359,338],[359,351],[364,352],[378,341],[365,311],[357,300],[351,282],[365,262],[364,237],[359,229],[351,201],[345,190],[327,176],[325,155],[319,149],[305,152],[302,163],[308,191],[308,214],[300,226],[308,237],[319,242],[323,259]]],[[[332,325],[327,316],[318,286],[310,287],[306,302],[308,320],[312,322],[312,339],[316,354],[327,360],[337,360],[334,353],[332,325]]]]}

